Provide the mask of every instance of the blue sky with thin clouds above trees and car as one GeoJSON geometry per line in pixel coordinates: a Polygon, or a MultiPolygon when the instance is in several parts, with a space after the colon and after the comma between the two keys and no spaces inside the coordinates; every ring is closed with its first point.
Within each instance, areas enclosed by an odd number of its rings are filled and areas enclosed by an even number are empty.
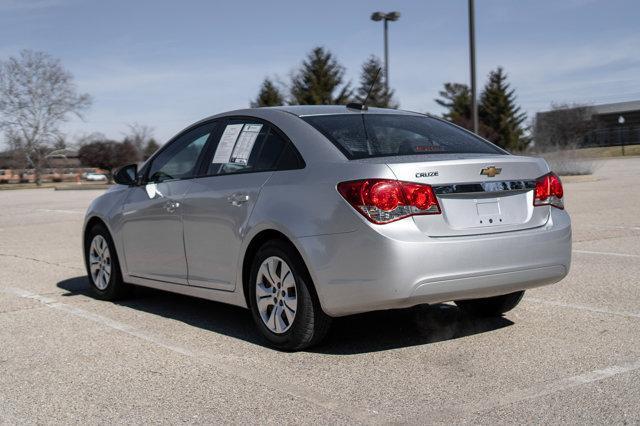
{"type": "MultiPolygon", "coordinates": [[[[288,80],[325,46],[355,84],[382,55],[376,10],[390,24],[390,77],[404,109],[439,113],[445,81],[467,82],[465,0],[119,1],[0,0],[0,58],[20,49],[62,60],[93,97],[69,139],[121,138],[127,123],[160,141],[208,115],[242,108],[265,76],[288,80]]],[[[551,102],[640,99],[637,0],[476,0],[478,80],[503,66],[532,116],[551,102]]]]}

